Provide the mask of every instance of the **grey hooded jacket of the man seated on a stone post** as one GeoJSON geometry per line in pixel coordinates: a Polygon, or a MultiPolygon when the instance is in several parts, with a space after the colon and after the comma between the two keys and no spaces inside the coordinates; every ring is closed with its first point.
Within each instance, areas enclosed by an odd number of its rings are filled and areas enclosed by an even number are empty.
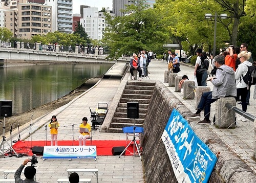
{"type": "Polygon", "coordinates": [[[212,99],[237,97],[237,88],[232,67],[221,65],[217,69],[215,79],[211,82],[214,85],[212,89],[212,99]]]}

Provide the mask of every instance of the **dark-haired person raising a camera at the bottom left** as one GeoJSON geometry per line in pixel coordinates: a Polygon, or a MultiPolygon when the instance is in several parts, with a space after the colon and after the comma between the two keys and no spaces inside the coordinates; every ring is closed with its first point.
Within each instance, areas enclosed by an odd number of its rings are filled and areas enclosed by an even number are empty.
{"type": "Polygon", "coordinates": [[[14,178],[15,178],[15,183],[39,183],[37,181],[34,181],[34,176],[36,173],[36,169],[34,166],[28,166],[25,168],[24,170],[24,175],[25,175],[25,180],[20,178],[20,175],[22,174],[22,170],[24,169],[25,165],[27,165],[29,162],[31,162],[30,159],[25,159],[25,161],[23,162],[22,165],[20,165],[20,167],[17,169],[17,171],[14,174],[14,178]]]}

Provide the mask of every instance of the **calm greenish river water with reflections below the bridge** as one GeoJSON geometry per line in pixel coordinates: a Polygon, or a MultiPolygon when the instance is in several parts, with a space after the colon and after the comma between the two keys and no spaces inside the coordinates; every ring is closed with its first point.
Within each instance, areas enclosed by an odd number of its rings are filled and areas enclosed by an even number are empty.
{"type": "Polygon", "coordinates": [[[105,74],[113,63],[26,65],[0,68],[0,100],[12,101],[19,114],[70,93],[90,78],[105,74]]]}

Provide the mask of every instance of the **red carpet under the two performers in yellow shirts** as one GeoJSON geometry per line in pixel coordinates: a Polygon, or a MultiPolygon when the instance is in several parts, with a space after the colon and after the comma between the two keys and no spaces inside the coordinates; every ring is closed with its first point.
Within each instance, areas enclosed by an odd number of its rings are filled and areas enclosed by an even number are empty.
{"type": "MultiPolygon", "coordinates": [[[[92,141],[93,146],[97,147],[97,155],[113,155],[112,154],[112,148],[113,147],[119,147],[119,146],[124,146],[126,147],[126,141],[92,141]]],[[[131,141],[127,141],[129,144],[131,141]]],[[[137,141],[138,142],[138,141],[137,141]]],[[[42,146],[44,147],[46,145],[45,141],[32,141],[32,147],[34,146],[42,146]]],[[[47,141],[47,145],[50,146],[51,142],[47,141]]],[[[72,141],[58,141],[59,146],[72,146],[72,141]]],[[[91,146],[91,141],[87,140],[86,141],[87,146],[91,146]]],[[[74,146],[79,146],[78,141],[74,141],[74,146]]],[[[19,141],[15,143],[13,146],[13,149],[16,151],[17,154],[23,154],[23,155],[33,155],[31,151],[31,142],[30,141],[19,141]]],[[[137,148],[135,147],[135,151],[137,148]]],[[[133,155],[133,143],[128,147],[128,149],[125,151],[125,155],[133,155]],[[130,151],[130,152],[129,152],[130,151]]]]}

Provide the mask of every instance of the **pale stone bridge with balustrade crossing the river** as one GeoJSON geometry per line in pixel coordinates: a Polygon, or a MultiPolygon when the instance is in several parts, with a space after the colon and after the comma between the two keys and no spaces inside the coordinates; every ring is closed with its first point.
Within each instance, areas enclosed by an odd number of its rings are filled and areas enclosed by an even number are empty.
{"type": "MultiPolygon", "coordinates": [[[[2,44],[1,44],[2,45],[2,44]]],[[[11,45],[11,44],[10,44],[11,45]]],[[[117,60],[106,59],[107,55],[103,55],[103,50],[95,49],[95,54],[79,53],[79,47],[73,48],[75,52],[63,52],[57,44],[55,51],[40,49],[40,44],[36,43],[35,49],[27,49],[24,44],[17,42],[16,47],[0,48],[0,66],[4,60],[23,60],[23,61],[67,61],[67,62],[92,62],[95,63],[108,62],[118,63],[130,61],[128,57],[121,57],[117,60]]]]}

